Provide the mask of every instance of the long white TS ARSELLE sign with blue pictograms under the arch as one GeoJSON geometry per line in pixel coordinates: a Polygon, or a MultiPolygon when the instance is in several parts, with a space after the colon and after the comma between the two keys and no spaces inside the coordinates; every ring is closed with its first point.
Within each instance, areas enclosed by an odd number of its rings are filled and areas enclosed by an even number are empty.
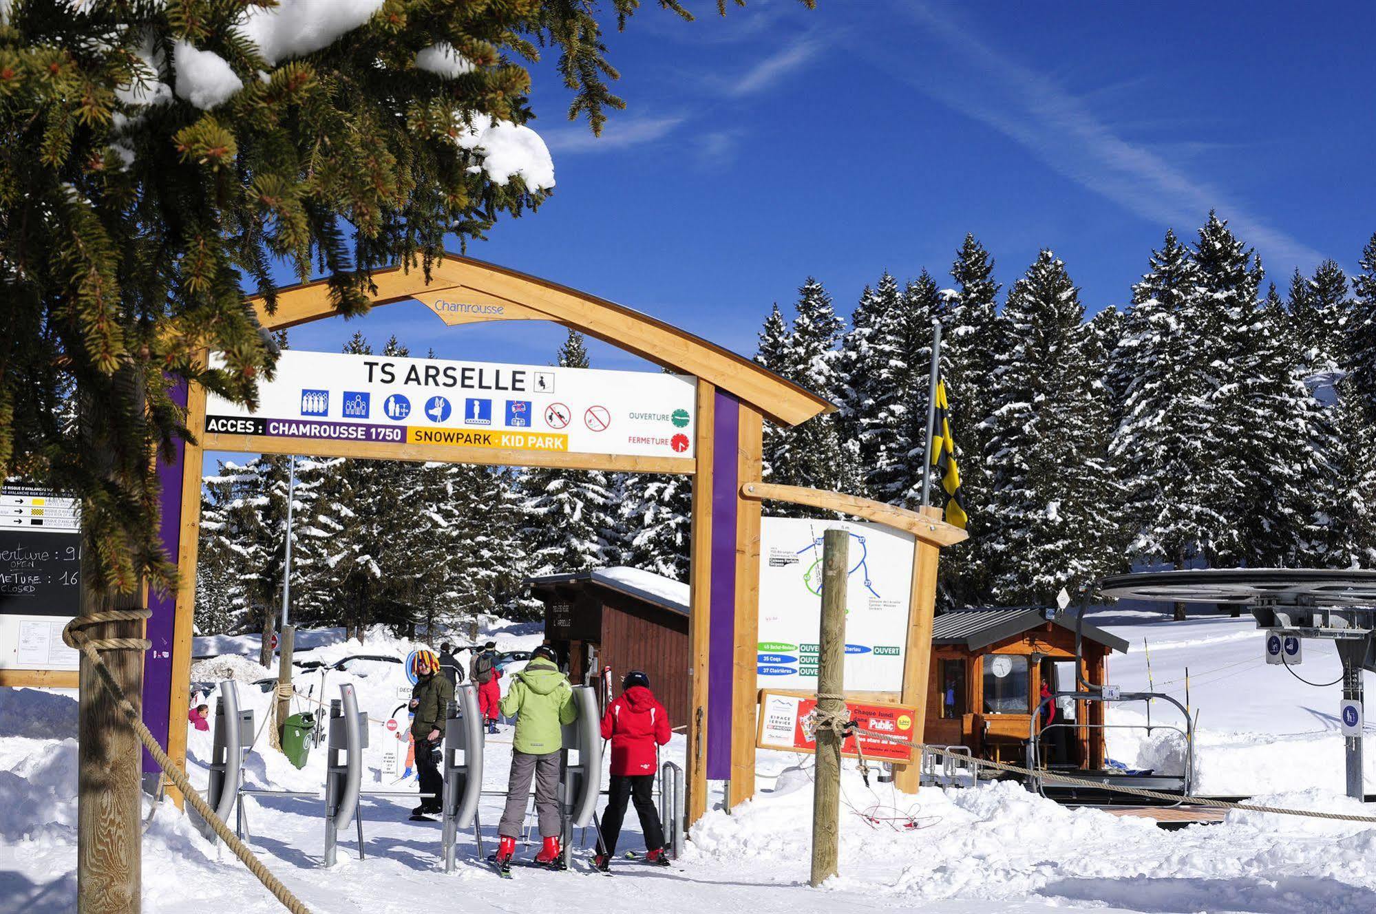
{"type": "Polygon", "coordinates": [[[692,457],[695,388],[685,374],[289,350],[257,410],[211,394],[205,431],[692,457]]]}

